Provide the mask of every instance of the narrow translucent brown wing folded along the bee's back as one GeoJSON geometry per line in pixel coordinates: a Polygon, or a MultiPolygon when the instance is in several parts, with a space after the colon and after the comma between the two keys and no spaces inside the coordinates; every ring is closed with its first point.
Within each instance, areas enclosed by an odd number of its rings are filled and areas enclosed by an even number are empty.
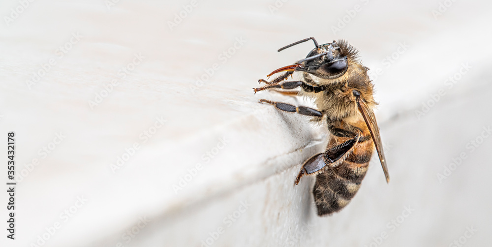
{"type": "Polygon", "coordinates": [[[386,159],[383,152],[383,144],[381,143],[381,136],[379,135],[379,127],[377,126],[376,118],[374,117],[374,112],[369,109],[364,100],[361,97],[357,97],[357,106],[359,111],[364,118],[364,121],[368,125],[370,135],[372,136],[372,141],[374,146],[376,146],[377,155],[379,156],[379,161],[381,161],[381,166],[383,167],[384,176],[386,177],[386,183],[390,182],[390,175],[388,174],[388,167],[386,166],[386,159]]]}

